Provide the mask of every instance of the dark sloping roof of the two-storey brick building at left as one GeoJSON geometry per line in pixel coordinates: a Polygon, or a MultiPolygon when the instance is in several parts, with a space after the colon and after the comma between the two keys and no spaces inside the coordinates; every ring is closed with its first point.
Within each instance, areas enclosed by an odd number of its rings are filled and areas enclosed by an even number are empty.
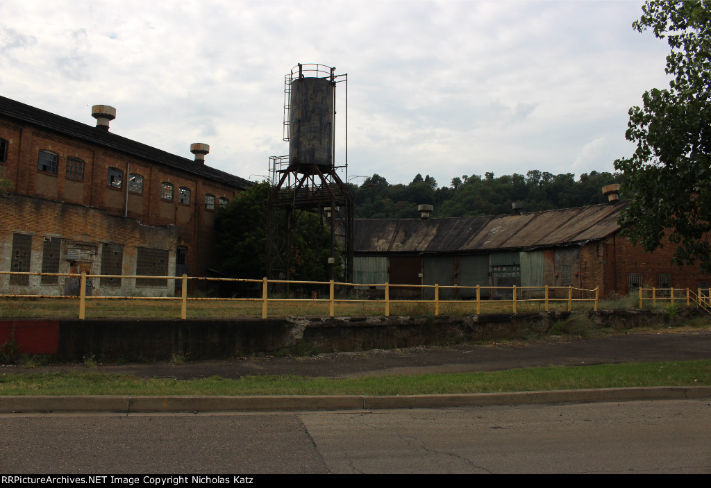
{"type": "Polygon", "coordinates": [[[90,141],[116,151],[144,158],[154,163],[160,163],[171,168],[183,170],[186,173],[192,173],[193,175],[199,175],[209,180],[218,181],[219,183],[224,183],[225,185],[230,185],[240,190],[252,186],[251,181],[240,178],[239,176],[230,175],[230,173],[225,173],[225,171],[196,163],[192,159],[166,153],[166,151],[146,146],[146,144],[132,141],[131,139],[126,139],[112,132],[97,129],[95,126],[82,124],[81,122],[67,119],[66,117],[52,114],[6,97],[0,97],[0,114],[27,122],[33,126],[58,132],[59,134],[65,134],[75,139],[90,141]]]}

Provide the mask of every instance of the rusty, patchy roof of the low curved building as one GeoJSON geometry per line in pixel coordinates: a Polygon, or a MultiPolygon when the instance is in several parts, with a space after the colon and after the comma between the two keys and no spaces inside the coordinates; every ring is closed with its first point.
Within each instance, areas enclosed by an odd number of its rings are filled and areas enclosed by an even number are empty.
{"type": "Polygon", "coordinates": [[[522,215],[444,219],[355,219],[355,252],[538,249],[604,239],[629,205],[602,204],[522,215]]]}

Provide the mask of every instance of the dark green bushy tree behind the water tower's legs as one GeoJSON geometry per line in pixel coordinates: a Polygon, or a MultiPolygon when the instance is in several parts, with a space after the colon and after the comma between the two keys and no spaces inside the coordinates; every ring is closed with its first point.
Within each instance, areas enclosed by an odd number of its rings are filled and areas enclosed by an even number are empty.
{"type": "MultiPolygon", "coordinates": [[[[252,185],[240,197],[220,209],[215,219],[216,249],[221,270],[233,278],[260,279],[267,276],[267,205],[269,184],[252,185]]],[[[289,279],[328,281],[328,257],[331,256],[331,234],[321,216],[311,212],[274,212],[279,227],[291,227],[289,279]]],[[[280,249],[284,242],[280,242],[280,249]]],[[[338,254],[338,252],[336,253],[338,254]]],[[[336,276],[341,266],[336,258],[336,276]]]]}

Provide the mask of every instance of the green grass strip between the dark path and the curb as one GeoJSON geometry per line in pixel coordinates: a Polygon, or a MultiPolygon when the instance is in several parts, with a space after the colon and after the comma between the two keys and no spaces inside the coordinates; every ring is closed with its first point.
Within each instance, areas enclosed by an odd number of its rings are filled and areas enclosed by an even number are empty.
{"type": "Polygon", "coordinates": [[[631,386],[709,386],[711,360],[538,367],[499,372],[328,379],[244,376],[143,379],[86,373],[3,374],[0,396],[26,395],[415,395],[631,386]]]}

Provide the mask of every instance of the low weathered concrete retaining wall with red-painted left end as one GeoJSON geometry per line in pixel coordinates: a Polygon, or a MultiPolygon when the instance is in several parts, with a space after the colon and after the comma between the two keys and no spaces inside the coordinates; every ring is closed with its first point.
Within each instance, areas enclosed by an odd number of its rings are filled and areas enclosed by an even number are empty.
{"type": "MultiPolygon", "coordinates": [[[[694,309],[680,310],[693,315],[694,309]]],[[[180,354],[217,359],[307,345],[321,352],[443,345],[545,332],[568,312],[470,317],[352,317],[240,320],[0,320],[0,345],[15,338],[19,352],[60,361],[154,361],[180,354]]],[[[584,317],[584,315],[582,315],[584,317]]],[[[646,310],[587,313],[594,325],[629,329],[663,324],[646,310]]]]}

